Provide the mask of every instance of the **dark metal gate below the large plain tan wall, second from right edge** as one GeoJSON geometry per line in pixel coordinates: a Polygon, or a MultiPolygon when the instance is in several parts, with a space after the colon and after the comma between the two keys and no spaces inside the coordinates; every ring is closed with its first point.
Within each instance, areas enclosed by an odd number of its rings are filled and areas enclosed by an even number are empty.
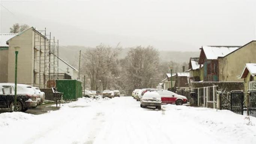
{"type": "Polygon", "coordinates": [[[244,114],[244,93],[243,91],[231,91],[231,111],[237,114],[244,114]]]}

